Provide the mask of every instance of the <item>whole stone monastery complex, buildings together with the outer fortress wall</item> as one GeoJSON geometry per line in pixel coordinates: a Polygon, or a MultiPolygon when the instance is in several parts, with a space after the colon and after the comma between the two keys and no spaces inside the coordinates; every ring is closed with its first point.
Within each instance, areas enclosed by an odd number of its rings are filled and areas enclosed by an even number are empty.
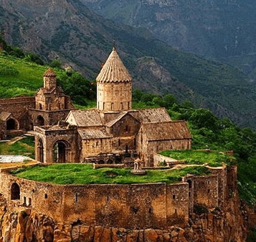
{"type": "MultiPolygon", "coordinates": [[[[34,128],[36,160],[41,163],[133,167],[139,157],[143,167],[152,169],[167,161],[157,155],[159,151],[191,148],[185,121],[170,120],[164,108],[131,109],[131,75],[115,47],[96,81],[97,108],[76,110],[49,69],[36,97],[0,100],[1,137],[34,128]]],[[[64,186],[21,179],[1,169],[0,192],[9,208],[30,208],[58,223],[187,227],[196,204],[222,208],[235,190],[236,167],[210,167],[210,171],[211,175],[187,175],[175,184],[64,186]]]]}

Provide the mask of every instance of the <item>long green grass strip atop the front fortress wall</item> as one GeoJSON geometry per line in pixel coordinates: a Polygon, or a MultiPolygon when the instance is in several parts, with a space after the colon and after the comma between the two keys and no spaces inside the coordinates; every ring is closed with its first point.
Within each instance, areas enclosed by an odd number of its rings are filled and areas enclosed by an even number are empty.
{"type": "Polygon", "coordinates": [[[32,179],[39,182],[54,184],[140,184],[181,181],[181,176],[187,173],[207,175],[210,171],[206,167],[186,167],[179,170],[147,170],[147,175],[133,175],[131,169],[101,168],[93,169],[90,164],[56,164],[42,167],[22,167],[11,171],[18,177],[32,179]]]}

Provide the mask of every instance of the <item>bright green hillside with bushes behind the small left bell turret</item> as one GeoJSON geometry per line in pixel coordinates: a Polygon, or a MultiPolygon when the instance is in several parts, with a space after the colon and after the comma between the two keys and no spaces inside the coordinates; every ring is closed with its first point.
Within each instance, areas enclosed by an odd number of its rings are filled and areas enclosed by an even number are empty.
{"type": "Polygon", "coordinates": [[[0,98],[18,97],[21,95],[33,96],[43,86],[42,75],[49,66],[57,74],[57,84],[70,95],[74,104],[94,105],[96,97],[95,82],[70,69],[61,68],[59,60],[52,60],[48,65],[33,53],[24,53],[20,48],[10,46],[3,41],[0,34],[0,43],[3,43],[3,52],[0,52],[0,98]]]}

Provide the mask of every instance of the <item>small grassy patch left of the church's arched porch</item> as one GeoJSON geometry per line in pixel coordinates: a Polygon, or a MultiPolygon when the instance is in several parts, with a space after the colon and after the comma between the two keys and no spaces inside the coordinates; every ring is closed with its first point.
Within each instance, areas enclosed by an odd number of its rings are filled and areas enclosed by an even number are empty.
{"type": "Polygon", "coordinates": [[[0,143],[1,155],[26,155],[34,159],[34,136],[26,136],[15,143],[0,143]]]}

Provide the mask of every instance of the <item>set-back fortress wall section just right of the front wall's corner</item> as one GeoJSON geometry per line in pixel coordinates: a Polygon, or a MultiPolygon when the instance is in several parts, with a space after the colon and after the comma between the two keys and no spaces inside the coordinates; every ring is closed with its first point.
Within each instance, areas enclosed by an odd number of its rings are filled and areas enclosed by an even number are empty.
{"type": "Polygon", "coordinates": [[[218,206],[218,175],[205,175],[195,179],[194,202],[210,208],[218,206]]]}

